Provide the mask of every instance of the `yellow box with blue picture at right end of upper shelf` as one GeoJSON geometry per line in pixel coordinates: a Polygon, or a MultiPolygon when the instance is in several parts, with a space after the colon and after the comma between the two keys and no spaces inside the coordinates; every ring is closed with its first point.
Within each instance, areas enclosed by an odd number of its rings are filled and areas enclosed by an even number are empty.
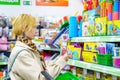
{"type": "Polygon", "coordinates": [[[120,35],[120,20],[108,21],[107,35],[109,36],[120,35]]]}

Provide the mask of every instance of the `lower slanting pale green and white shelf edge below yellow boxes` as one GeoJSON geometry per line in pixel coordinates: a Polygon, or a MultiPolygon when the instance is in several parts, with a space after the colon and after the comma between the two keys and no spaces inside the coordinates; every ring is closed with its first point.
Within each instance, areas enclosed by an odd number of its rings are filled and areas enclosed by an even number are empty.
{"type": "Polygon", "coordinates": [[[114,76],[120,76],[120,68],[109,67],[109,66],[93,64],[93,63],[87,63],[87,62],[77,61],[77,60],[72,60],[72,59],[69,59],[67,64],[85,68],[85,69],[89,69],[89,70],[93,70],[93,71],[106,73],[106,74],[111,74],[114,76]]]}

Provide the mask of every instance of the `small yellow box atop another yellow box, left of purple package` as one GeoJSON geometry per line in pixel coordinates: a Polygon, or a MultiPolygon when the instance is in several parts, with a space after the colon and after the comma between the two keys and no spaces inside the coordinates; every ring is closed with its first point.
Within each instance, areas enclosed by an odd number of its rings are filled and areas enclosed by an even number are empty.
{"type": "Polygon", "coordinates": [[[85,51],[98,52],[98,43],[85,42],[85,43],[84,43],[84,50],[85,50],[85,51]]]}

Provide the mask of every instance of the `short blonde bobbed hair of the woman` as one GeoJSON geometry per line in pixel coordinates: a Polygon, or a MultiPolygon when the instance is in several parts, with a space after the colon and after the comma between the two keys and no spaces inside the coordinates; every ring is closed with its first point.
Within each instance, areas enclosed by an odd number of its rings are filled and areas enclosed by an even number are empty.
{"type": "Polygon", "coordinates": [[[36,19],[29,14],[20,14],[13,20],[12,26],[15,35],[22,35],[25,31],[30,31],[36,27],[36,19]]]}

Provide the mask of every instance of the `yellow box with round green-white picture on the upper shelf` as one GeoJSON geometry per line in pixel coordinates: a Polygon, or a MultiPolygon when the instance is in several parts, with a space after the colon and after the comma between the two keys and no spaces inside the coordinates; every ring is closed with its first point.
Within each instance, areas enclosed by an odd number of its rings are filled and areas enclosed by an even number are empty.
{"type": "Polygon", "coordinates": [[[95,36],[106,36],[107,34],[107,17],[95,19],[95,36]]]}

